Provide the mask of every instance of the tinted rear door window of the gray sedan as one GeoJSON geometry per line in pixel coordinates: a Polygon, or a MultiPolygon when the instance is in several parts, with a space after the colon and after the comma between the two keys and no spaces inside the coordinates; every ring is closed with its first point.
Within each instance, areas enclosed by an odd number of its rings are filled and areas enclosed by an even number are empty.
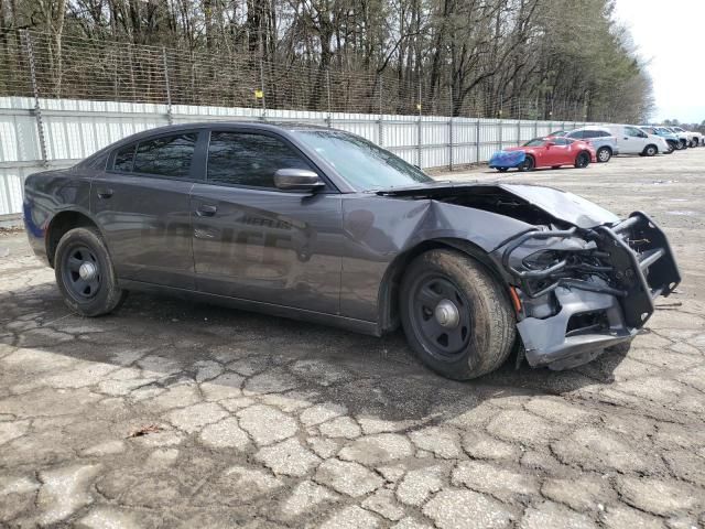
{"type": "Polygon", "coordinates": [[[196,138],[196,133],[186,133],[142,141],[137,148],[133,171],[161,176],[187,177],[196,138]]]}

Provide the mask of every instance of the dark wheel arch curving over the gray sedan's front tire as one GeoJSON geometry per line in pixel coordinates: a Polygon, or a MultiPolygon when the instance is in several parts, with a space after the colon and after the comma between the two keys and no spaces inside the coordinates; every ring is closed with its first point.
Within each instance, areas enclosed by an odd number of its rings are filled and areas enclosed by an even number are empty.
{"type": "Polygon", "coordinates": [[[429,250],[448,249],[460,251],[479,262],[499,284],[509,288],[488,253],[469,240],[458,238],[427,239],[399,253],[384,272],[378,293],[378,325],[380,334],[399,326],[399,289],[411,261],[429,250]]]}

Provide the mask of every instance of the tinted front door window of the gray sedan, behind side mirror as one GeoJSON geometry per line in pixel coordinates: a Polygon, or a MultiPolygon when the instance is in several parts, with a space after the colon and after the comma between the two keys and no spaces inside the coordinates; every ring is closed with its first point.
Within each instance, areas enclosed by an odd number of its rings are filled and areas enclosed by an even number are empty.
{"type": "Polygon", "coordinates": [[[271,136],[212,132],[208,181],[274,188],[280,169],[313,169],[292,148],[271,136]]]}

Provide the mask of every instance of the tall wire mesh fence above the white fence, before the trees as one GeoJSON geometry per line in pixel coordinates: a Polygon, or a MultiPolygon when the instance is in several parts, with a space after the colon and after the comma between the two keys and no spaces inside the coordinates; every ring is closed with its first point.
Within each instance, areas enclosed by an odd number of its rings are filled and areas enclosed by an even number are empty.
{"type": "MultiPolygon", "coordinates": [[[[454,94],[421,74],[400,78],[360,71],[267,62],[259,54],[193,52],[26,30],[0,39],[0,96],[91,99],[327,112],[584,120],[585,108],[547,98],[474,90],[454,94]]],[[[459,90],[456,90],[459,91],[459,90]]]]}

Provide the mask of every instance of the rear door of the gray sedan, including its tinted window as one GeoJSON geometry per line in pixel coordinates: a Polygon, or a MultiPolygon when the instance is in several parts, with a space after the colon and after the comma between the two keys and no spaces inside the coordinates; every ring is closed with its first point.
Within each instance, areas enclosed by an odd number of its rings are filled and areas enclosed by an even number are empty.
{"type": "Polygon", "coordinates": [[[90,210],[120,279],[195,288],[189,193],[198,141],[197,130],[145,138],[116,149],[93,179],[90,210]]]}

